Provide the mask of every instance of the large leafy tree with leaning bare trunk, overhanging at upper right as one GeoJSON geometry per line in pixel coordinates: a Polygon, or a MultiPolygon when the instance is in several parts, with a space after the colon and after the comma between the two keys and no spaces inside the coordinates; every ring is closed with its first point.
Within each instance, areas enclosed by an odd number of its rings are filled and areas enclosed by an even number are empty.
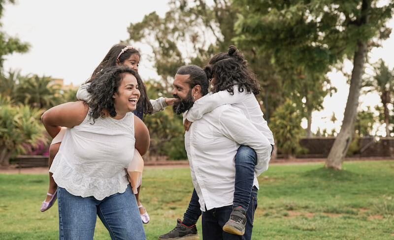
{"type": "MultiPolygon", "coordinates": [[[[354,67],[344,120],[325,166],[341,169],[353,138],[361,76],[368,41],[388,37],[385,26],[394,2],[377,6],[377,0],[235,1],[242,8],[235,25],[238,42],[258,46],[274,60],[307,72],[325,73],[345,58],[354,67]]],[[[372,46],[373,44],[371,44],[372,46]]]]}

